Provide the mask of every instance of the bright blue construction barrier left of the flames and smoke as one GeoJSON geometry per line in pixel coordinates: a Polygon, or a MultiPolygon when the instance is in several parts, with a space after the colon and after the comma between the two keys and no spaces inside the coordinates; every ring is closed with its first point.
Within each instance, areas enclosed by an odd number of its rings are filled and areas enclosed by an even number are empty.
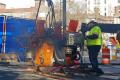
{"type": "MultiPolygon", "coordinates": [[[[0,17],[0,45],[2,43],[3,18],[0,17]]],[[[28,47],[29,37],[34,32],[35,21],[7,17],[6,21],[6,53],[18,54],[21,61],[25,59],[26,48],[28,47]]],[[[2,46],[0,46],[1,50],[2,46]]]]}

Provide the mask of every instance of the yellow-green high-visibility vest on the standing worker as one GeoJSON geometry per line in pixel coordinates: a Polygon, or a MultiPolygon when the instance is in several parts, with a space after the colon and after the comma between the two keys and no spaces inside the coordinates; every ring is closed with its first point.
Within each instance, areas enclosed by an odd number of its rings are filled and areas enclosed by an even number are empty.
{"type": "Polygon", "coordinates": [[[102,45],[102,32],[99,26],[94,26],[90,31],[88,32],[88,35],[97,34],[98,38],[96,39],[87,39],[87,46],[91,45],[102,45]]]}

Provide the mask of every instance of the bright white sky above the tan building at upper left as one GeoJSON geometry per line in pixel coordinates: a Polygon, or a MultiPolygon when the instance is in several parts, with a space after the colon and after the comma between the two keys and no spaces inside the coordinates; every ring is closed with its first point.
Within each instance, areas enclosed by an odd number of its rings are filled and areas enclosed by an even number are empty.
{"type": "Polygon", "coordinates": [[[6,8],[28,8],[35,6],[34,0],[0,0],[0,3],[5,3],[6,8]]]}

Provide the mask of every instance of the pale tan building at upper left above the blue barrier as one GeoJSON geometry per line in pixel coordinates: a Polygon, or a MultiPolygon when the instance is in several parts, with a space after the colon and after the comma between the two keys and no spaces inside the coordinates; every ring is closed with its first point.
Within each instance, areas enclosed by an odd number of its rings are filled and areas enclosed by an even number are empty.
{"type": "MultiPolygon", "coordinates": [[[[47,12],[47,8],[43,6],[44,1],[42,1],[42,5],[40,8],[39,18],[42,18],[42,13],[47,12]]],[[[35,19],[38,11],[38,4],[39,0],[35,0],[35,6],[30,8],[11,8],[6,9],[6,7],[3,6],[3,4],[0,4],[0,15],[7,15],[7,16],[13,16],[13,17],[20,17],[20,18],[29,18],[29,19],[35,19]]]]}

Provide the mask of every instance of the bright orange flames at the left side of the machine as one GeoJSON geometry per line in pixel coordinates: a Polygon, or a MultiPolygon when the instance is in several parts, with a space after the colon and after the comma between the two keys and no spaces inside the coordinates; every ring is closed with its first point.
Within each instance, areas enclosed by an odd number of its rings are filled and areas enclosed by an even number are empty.
{"type": "Polygon", "coordinates": [[[43,43],[36,52],[35,64],[40,66],[52,66],[53,52],[53,45],[48,42],[43,43]]]}

